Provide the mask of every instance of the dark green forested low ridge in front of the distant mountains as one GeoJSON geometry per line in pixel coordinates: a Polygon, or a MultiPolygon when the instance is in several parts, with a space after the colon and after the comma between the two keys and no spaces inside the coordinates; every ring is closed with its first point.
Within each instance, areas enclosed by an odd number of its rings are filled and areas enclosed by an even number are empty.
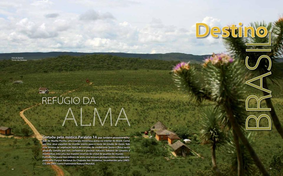
{"type": "Polygon", "coordinates": [[[123,58],[112,55],[58,56],[40,60],[0,61],[0,72],[62,72],[80,70],[136,70],[157,69],[170,70],[178,61],[154,59],[123,58]]]}

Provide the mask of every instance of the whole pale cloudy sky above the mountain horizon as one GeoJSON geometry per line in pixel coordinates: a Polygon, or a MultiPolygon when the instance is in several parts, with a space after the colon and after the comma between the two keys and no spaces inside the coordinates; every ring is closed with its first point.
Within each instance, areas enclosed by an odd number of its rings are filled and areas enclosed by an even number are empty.
{"type": "Polygon", "coordinates": [[[195,23],[275,21],[283,1],[1,0],[0,53],[225,52],[221,38],[195,38],[195,23]]]}

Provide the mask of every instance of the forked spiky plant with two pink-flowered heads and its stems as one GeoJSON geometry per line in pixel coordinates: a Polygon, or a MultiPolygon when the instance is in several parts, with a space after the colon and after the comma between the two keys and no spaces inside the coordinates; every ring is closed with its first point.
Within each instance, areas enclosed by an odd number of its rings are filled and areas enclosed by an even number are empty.
{"type": "Polygon", "coordinates": [[[198,102],[207,99],[216,103],[215,108],[222,114],[221,123],[228,130],[232,128],[234,142],[238,146],[238,174],[241,175],[241,150],[239,140],[243,143],[256,166],[263,175],[269,175],[259,157],[250,145],[243,133],[244,118],[246,118],[245,107],[243,106],[244,94],[244,73],[243,64],[234,60],[226,54],[213,54],[205,59],[203,72],[205,77],[196,76],[196,70],[189,63],[181,62],[174,69],[174,80],[178,88],[184,90],[198,102]]]}

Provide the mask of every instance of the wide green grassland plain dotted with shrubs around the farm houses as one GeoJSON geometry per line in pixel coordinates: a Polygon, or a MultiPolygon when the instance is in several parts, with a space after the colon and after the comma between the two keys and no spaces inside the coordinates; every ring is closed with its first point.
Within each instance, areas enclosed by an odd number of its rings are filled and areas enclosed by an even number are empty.
{"type": "MultiPolygon", "coordinates": [[[[117,59],[117,58],[116,58],[117,59]]],[[[118,58],[119,60],[119,58],[118,58]]],[[[107,70],[107,64],[101,69],[92,69],[90,67],[75,69],[77,71],[60,71],[42,72],[42,69],[31,69],[29,73],[25,67],[17,71],[17,65],[6,65],[0,70],[0,122],[2,126],[13,128],[15,135],[25,135],[23,128],[29,129],[19,116],[19,112],[40,103],[42,97],[58,96],[64,92],[77,89],[77,91],[63,95],[63,97],[94,97],[96,104],[41,104],[27,110],[24,115],[34,124],[38,131],[43,135],[98,135],[98,136],[133,136],[144,130],[148,130],[158,120],[163,122],[171,129],[185,128],[191,132],[189,138],[193,140],[189,144],[195,152],[199,153],[203,158],[195,156],[187,158],[167,159],[170,157],[170,151],[165,143],[158,142],[149,146],[144,145],[143,137],[131,138],[131,162],[129,163],[98,163],[95,166],[64,166],[65,173],[70,175],[210,175],[211,155],[209,146],[200,145],[198,134],[201,125],[201,112],[206,107],[211,106],[210,102],[198,104],[193,99],[187,97],[184,92],[180,92],[175,87],[172,75],[170,74],[171,62],[147,61],[148,64],[143,66],[137,64],[138,60],[133,59],[134,64],[129,64],[127,68],[117,69],[115,64],[111,65],[114,70],[107,70]],[[164,62],[164,63],[163,63],[164,62]],[[148,67],[153,64],[152,67],[148,67]],[[162,68],[153,69],[156,65],[162,68]],[[135,65],[138,69],[132,67],[135,65]],[[151,69],[150,69],[151,68],[151,69]],[[80,70],[80,71],[78,71],[80,70]],[[12,84],[13,80],[23,80],[23,84],[12,84]],[[87,85],[85,82],[89,79],[93,84],[87,85]],[[50,92],[54,94],[38,94],[39,87],[48,87],[50,92]],[[62,123],[65,119],[68,109],[71,108],[78,126],[72,120],[67,120],[65,125],[62,123]],[[80,108],[83,109],[83,124],[91,123],[91,126],[80,126],[80,108]],[[95,126],[93,126],[94,108],[97,108],[101,119],[103,120],[109,108],[112,111],[112,123],[110,126],[109,116],[102,127],[96,117],[95,126]],[[131,126],[129,127],[126,120],[121,120],[115,127],[114,124],[118,118],[121,108],[125,109],[126,115],[131,126]]],[[[53,60],[50,60],[50,62],[53,60]]],[[[65,62],[69,63],[66,57],[65,62]]],[[[123,60],[124,62],[125,60],[123,60]]],[[[7,61],[3,61],[7,62],[7,61]]],[[[34,61],[35,62],[35,61],[34,61]]],[[[118,61],[117,61],[118,62],[118,61]]],[[[72,62],[70,61],[70,64],[72,62]]],[[[2,63],[3,65],[4,63],[2,63]]],[[[5,63],[6,64],[6,63],[5,63]]],[[[37,67],[39,63],[35,64],[37,67]]],[[[119,64],[121,65],[121,64],[119,64]]],[[[72,64],[70,65],[72,66],[72,64]]],[[[30,68],[31,66],[27,66],[30,68]]],[[[197,65],[199,67],[199,65],[197,65]]],[[[77,68],[77,67],[75,67],[77,68]]],[[[43,68],[47,69],[46,67],[43,68]]],[[[243,69],[246,69],[243,67],[243,69]]],[[[69,69],[67,69],[69,70],[69,69]]],[[[282,72],[281,72],[282,73],[282,72]]],[[[203,75],[200,72],[200,79],[203,75]]],[[[258,76],[258,75],[256,75],[258,76]]],[[[282,79],[278,79],[279,85],[270,84],[272,90],[272,99],[274,107],[279,115],[280,121],[283,122],[283,91],[282,79]]],[[[255,94],[261,96],[262,93],[255,88],[247,86],[246,96],[255,94]]],[[[251,106],[256,106],[255,101],[251,101],[251,106]]],[[[261,103],[261,107],[265,107],[265,102],[261,103]]],[[[259,116],[260,114],[269,114],[268,112],[253,112],[250,114],[259,116]]],[[[69,114],[69,118],[71,114],[69,114]]],[[[121,118],[124,118],[123,114],[121,118]]],[[[250,125],[254,125],[253,121],[250,125]]],[[[260,125],[267,125],[266,119],[260,121],[260,125]]],[[[30,130],[30,129],[29,129],[30,130]]],[[[278,135],[274,126],[271,131],[253,131],[255,139],[253,142],[254,149],[265,164],[269,165],[272,156],[279,149],[282,149],[282,139],[278,135]]],[[[29,135],[32,132],[29,131],[29,135]]],[[[28,139],[17,139],[17,145],[21,146],[27,143],[28,139]]],[[[11,139],[0,138],[0,158],[3,159],[5,153],[8,153],[10,159],[15,152],[19,152],[19,161],[25,162],[25,155],[32,158],[31,149],[25,147],[24,150],[29,151],[22,153],[20,148],[8,147],[12,143],[11,139]],[[4,145],[2,145],[4,144],[4,145]],[[3,150],[5,149],[5,150],[3,150]]],[[[25,145],[24,145],[25,146],[25,145]]],[[[229,175],[229,166],[231,164],[230,156],[225,147],[216,151],[217,161],[221,171],[229,175]]],[[[7,159],[8,160],[8,159],[7,159]]],[[[32,173],[32,164],[25,163],[31,168],[29,171],[19,168],[21,175],[26,172],[32,173]]],[[[39,169],[39,168],[37,168],[39,169]]],[[[0,165],[0,170],[4,173],[11,173],[7,170],[6,165],[0,165]]],[[[53,174],[51,169],[42,168],[42,172],[53,174]]],[[[36,171],[36,173],[38,173],[36,171]]],[[[258,173],[255,173],[257,175],[258,173]]],[[[27,174],[28,175],[28,174],[27,174]]],[[[38,174],[37,174],[38,175],[38,174]]],[[[39,174],[40,175],[40,174],[39,174]]]]}

